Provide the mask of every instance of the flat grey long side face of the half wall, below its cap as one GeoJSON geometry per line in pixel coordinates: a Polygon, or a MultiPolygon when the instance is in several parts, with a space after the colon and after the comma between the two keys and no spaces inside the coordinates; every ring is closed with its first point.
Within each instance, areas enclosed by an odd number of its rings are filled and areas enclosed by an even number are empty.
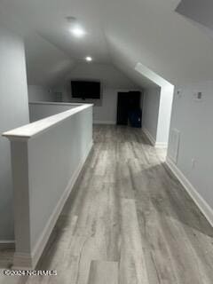
{"type": "Polygon", "coordinates": [[[32,247],[91,149],[91,114],[92,108],[74,114],[49,132],[29,141],[32,247]]]}

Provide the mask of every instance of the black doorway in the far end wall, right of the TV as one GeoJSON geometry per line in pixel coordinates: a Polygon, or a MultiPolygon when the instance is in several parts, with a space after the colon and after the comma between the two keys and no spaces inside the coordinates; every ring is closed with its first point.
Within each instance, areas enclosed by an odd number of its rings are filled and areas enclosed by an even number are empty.
{"type": "Polygon", "coordinates": [[[118,92],[117,124],[141,127],[140,91],[118,92]]]}

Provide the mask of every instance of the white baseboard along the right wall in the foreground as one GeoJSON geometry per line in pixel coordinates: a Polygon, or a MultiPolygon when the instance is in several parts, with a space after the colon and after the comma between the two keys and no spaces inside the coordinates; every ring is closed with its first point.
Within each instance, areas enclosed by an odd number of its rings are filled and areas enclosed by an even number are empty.
{"type": "Polygon", "coordinates": [[[186,192],[191,196],[195,204],[201,210],[202,214],[207,218],[209,224],[213,227],[213,209],[210,208],[209,204],[201,197],[200,193],[193,187],[190,181],[185,177],[181,170],[177,168],[177,165],[171,161],[170,157],[167,156],[166,165],[177,177],[181,185],[184,186],[186,192]]]}

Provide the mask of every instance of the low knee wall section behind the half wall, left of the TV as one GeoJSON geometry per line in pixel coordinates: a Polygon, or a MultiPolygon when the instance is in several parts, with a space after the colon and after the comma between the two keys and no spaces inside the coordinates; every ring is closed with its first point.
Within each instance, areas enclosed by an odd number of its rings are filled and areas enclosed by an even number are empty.
{"type": "Polygon", "coordinates": [[[28,100],[34,101],[54,101],[55,96],[48,87],[39,85],[28,85],[28,100]]]}

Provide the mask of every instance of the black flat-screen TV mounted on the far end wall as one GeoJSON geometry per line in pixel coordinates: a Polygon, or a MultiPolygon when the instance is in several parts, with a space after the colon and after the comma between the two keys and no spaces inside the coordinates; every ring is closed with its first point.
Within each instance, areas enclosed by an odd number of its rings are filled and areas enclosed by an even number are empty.
{"type": "Polygon", "coordinates": [[[72,81],[73,98],[100,99],[100,83],[91,81],[72,81]]]}

